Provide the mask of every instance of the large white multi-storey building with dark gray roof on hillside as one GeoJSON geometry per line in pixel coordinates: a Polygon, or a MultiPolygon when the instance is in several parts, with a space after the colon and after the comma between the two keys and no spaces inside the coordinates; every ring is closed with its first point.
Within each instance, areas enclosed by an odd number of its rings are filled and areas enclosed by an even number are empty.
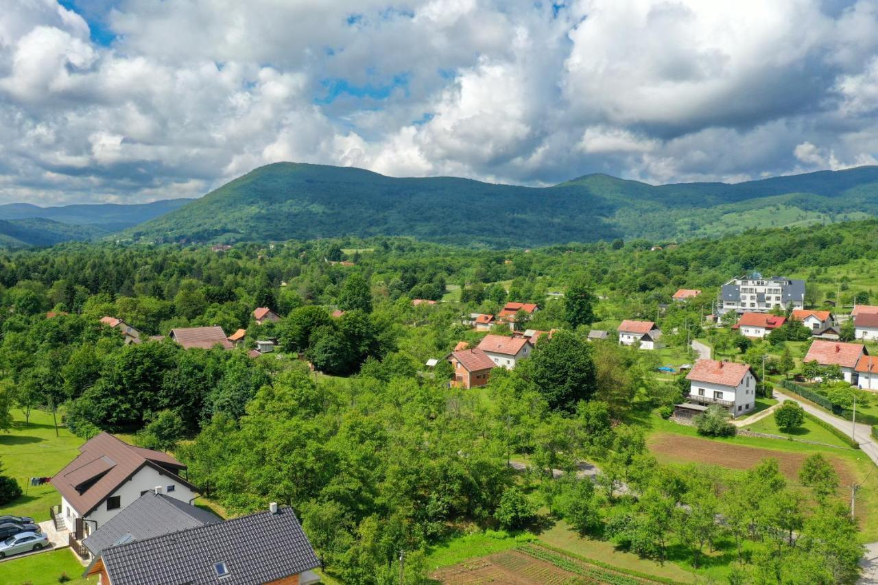
{"type": "Polygon", "coordinates": [[[805,281],[783,277],[763,278],[759,272],[732,278],[719,293],[716,312],[768,313],[774,308],[805,306],[805,281]]]}

